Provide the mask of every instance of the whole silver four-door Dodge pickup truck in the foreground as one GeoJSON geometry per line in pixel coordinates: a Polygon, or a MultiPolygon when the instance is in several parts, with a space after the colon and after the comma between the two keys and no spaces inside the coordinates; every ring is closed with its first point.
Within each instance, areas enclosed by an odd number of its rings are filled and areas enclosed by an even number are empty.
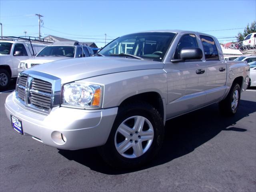
{"type": "Polygon", "coordinates": [[[235,114],[249,73],[246,62],[224,61],[208,34],[140,32],[94,57],[20,73],[5,109],[22,135],[59,149],[98,146],[108,164],[131,168],[157,154],[166,120],[214,103],[235,114]]]}

